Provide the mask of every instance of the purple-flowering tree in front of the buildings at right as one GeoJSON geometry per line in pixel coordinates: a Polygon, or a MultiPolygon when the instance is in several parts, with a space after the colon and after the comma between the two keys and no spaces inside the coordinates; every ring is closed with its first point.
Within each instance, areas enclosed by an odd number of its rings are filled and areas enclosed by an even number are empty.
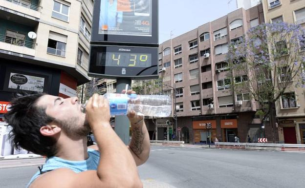
{"type": "Polygon", "coordinates": [[[285,22],[253,27],[231,42],[227,62],[232,89],[236,94],[249,93],[259,103],[256,114],[263,125],[270,120],[274,141],[276,101],[290,86],[305,86],[304,28],[285,22]]]}

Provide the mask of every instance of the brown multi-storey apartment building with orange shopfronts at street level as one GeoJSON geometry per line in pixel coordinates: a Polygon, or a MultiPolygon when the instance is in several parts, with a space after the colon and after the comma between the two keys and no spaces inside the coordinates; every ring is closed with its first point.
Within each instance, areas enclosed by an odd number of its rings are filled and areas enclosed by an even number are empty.
{"type": "MultiPolygon", "coordinates": [[[[255,101],[249,93],[237,94],[230,88],[227,73],[234,70],[225,63],[230,42],[262,22],[262,4],[240,8],[159,45],[159,75],[164,93],[175,98],[173,117],[181,129],[180,140],[207,143],[208,137],[212,141],[217,137],[220,142],[234,142],[237,135],[240,142],[246,142],[247,135],[254,140],[263,136],[255,101]]],[[[238,77],[235,81],[242,82],[246,75],[238,77]]],[[[175,133],[175,120],[170,118],[170,122],[175,133]]],[[[166,139],[162,135],[170,130],[164,123],[164,119],[156,121],[158,140],[166,139]]]]}

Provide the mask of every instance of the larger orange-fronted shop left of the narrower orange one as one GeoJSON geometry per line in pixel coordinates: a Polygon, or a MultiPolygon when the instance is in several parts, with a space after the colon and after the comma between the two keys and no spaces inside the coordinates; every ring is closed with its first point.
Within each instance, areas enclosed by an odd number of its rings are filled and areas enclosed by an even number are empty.
{"type": "Polygon", "coordinates": [[[216,137],[216,120],[193,121],[194,143],[208,144],[208,138],[214,143],[216,137]],[[207,129],[206,125],[211,124],[207,129]]]}

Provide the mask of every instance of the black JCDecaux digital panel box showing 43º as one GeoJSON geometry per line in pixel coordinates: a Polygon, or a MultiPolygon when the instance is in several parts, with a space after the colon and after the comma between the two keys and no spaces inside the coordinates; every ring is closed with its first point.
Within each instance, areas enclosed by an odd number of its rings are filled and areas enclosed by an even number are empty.
{"type": "Polygon", "coordinates": [[[157,47],[91,45],[89,76],[153,79],[157,68],[157,47]]]}

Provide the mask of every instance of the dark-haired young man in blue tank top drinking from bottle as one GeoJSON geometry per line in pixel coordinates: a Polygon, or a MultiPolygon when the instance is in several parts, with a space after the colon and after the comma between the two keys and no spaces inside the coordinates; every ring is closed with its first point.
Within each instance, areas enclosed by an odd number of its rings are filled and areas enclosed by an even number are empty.
{"type": "Polygon", "coordinates": [[[132,138],[126,146],[109,124],[109,102],[103,96],[94,94],[86,114],[82,110],[77,97],[34,93],[12,100],[4,118],[12,126],[15,146],[47,157],[28,187],[142,188],[136,166],[150,151],[143,117],[128,115],[132,138]],[[97,145],[87,148],[90,129],[97,145]]]}

